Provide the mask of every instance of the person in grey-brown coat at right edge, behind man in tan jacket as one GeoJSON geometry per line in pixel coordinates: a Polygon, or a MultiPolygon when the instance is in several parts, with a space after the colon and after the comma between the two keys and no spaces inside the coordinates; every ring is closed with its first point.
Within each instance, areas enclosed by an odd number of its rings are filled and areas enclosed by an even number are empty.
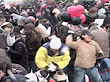
{"type": "Polygon", "coordinates": [[[98,57],[97,59],[109,58],[109,33],[107,29],[105,27],[98,27],[97,24],[94,24],[89,30],[92,34],[92,40],[95,40],[104,52],[104,56],[98,57]]]}

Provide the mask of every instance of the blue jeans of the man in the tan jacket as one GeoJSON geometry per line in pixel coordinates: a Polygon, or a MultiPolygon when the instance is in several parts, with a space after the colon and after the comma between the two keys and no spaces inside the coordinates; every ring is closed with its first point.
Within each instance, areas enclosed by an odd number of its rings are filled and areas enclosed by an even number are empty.
{"type": "Polygon", "coordinates": [[[103,82],[98,69],[96,67],[85,69],[85,68],[74,68],[73,82],[84,82],[85,74],[92,80],[92,82],[103,82]]]}

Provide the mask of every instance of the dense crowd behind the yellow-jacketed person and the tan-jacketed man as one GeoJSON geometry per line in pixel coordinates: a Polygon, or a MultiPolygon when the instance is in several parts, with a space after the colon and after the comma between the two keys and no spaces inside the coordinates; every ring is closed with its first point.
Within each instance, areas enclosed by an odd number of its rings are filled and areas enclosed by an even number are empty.
{"type": "MultiPolygon", "coordinates": [[[[8,75],[8,69],[22,75],[31,70],[36,72],[36,52],[53,35],[65,44],[68,34],[73,34],[76,40],[83,29],[88,29],[104,52],[104,56],[97,57],[97,62],[109,58],[109,18],[109,0],[38,0],[24,4],[1,1],[0,70],[4,73],[1,81],[8,75]]],[[[76,53],[70,48],[71,60],[64,69],[70,82],[76,53]]]]}

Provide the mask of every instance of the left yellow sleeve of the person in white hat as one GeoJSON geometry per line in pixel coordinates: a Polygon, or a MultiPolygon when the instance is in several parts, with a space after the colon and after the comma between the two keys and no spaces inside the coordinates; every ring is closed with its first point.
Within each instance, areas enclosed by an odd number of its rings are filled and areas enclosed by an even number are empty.
{"type": "Polygon", "coordinates": [[[46,62],[47,49],[45,47],[40,47],[35,56],[35,63],[40,69],[45,69],[48,66],[46,62]]]}

